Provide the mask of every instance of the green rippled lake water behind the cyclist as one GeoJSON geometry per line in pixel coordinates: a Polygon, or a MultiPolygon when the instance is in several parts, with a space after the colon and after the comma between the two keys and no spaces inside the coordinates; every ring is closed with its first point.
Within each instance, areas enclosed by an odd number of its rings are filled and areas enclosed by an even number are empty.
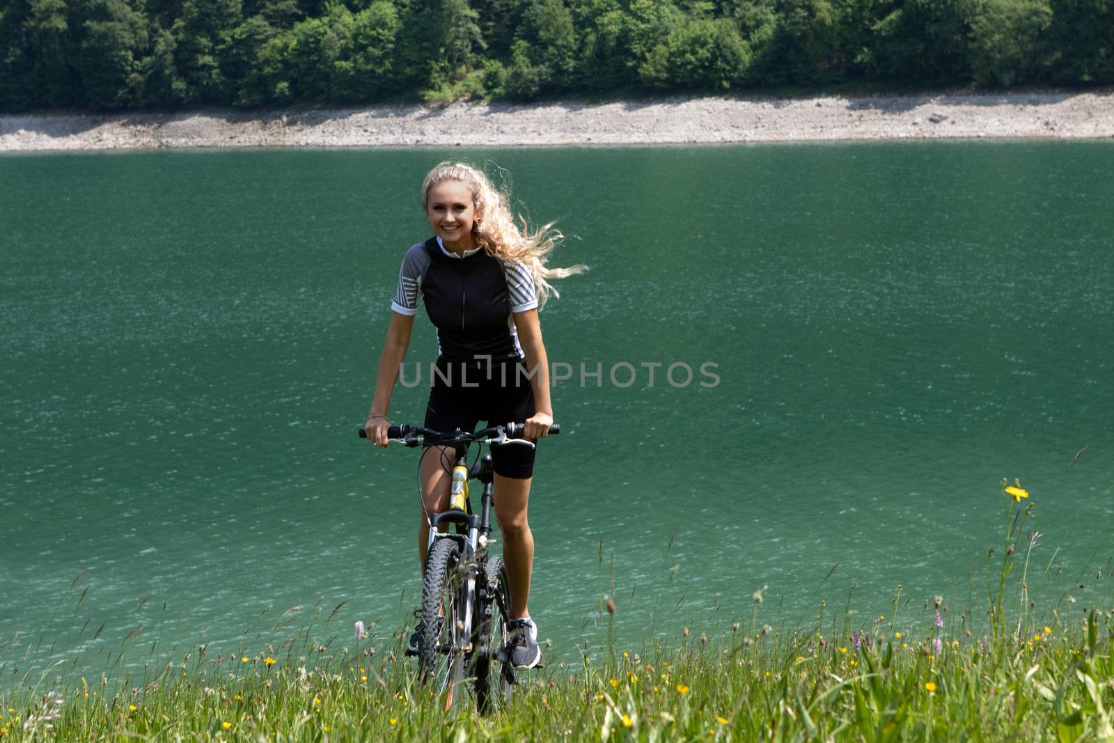
{"type": "Polygon", "coordinates": [[[541,315],[573,373],[530,604],[561,657],[612,593],[636,649],[749,626],[763,585],[760,623],[852,587],[869,623],[898,584],[902,620],[978,616],[1003,477],[1044,532],[1037,610],[1110,599],[1108,143],[33,155],[0,158],[0,643],[410,620],[416,452],[354,431],[444,156],[507,168],[570,236],[554,263],[590,266],[541,315]]]}

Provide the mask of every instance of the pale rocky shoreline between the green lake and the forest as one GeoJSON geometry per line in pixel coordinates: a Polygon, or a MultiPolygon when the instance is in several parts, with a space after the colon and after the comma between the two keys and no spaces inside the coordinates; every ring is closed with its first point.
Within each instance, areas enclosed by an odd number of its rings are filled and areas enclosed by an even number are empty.
{"type": "Polygon", "coordinates": [[[0,116],[0,151],[1114,137],[1114,90],[0,116]]]}

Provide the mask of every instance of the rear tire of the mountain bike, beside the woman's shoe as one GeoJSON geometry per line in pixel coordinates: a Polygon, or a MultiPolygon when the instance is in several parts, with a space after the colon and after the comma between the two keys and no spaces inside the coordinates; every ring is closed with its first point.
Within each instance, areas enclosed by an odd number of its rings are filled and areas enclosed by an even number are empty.
{"type": "Polygon", "coordinates": [[[510,581],[501,557],[485,561],[483,590],[477,593],[476,708],[480,714],[489,714],[508,704],[515,688],[514,672],[509,667],[500,667],[492,674],[495,655],[507,645],[507,623],[510,620],[510,581]]]}

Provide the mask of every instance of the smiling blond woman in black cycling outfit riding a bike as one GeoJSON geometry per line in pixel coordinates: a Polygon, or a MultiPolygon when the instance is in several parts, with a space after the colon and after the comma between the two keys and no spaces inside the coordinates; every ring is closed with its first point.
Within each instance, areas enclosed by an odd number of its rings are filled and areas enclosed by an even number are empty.
{"type": "MultiPolygon", "coordinates": [[[[469,165],[446,162],[434,167],[422,183],[422,208],[434,236],[410,247],[402,260],[375,394],[364,424],[368,439],[387,446],[387,413],[410,344],[419,295],[437,326],[440,346],[424,427],[473,431],[480,420],[488,426],[521,421],[526,438],[544,438],[553,423],[553,405],[538,311],[550,293],[557,296],[548,278],[579,273],[584,266],[547,267],[546,256],[560,233],[551,225],[532,233],[520,229],[507,195],[469,165]]],[[[422,451],[418,528],[422,565],[429,541],[426,515],[449,505],[453,453],[448,449],[431,446],[422,451]]],[[[537,626],[528,608],[534,536],[527,505],[534,449],[492,447],[491,458],[496,519],[511,587],[511,658],[516,666],[529,668],[541,659],[537,626]]],[[[414,633],[411,652],[417,651],[417,641],[414,633]]]]}

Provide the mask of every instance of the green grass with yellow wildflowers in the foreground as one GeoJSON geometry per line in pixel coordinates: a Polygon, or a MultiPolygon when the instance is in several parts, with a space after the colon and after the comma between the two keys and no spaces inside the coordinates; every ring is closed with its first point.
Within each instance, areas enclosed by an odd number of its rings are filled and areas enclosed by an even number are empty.
{"type": "MultiPolygon", "coordinates": [[[[919,617],[902,617],[910,613],[898,587],[889,614],[868,623],[852,626],[849,612],[827,616],[821,602],[811,628],[774,628],[760,624],[760,589],[747,620],[711,638],[685,628],[634,647],[608,627],[575,663],[522,674],[510,706],[486,717],[446,715],[401,657],[401,628],[315,641],[335,629],[340,609],[325,616],[320,604],[307,622],[283,615],[263,651],[153,648],[158,662],[141,669],[109,656],[99,674],[75,659],[19,671],[36,667],[38,648],[17,641],[0,645],[0,675],[17,681],[0,702],[0,735],[2,743],[1114,740],[1114,610],[1081,608],[1065,593],[1038,619],[1028,581],[1039,534],[1025,529],[1032,505],[1020,493],[1003,483],[1005,538],[988,555],[977,609],[951,612],[936,598],[919,617]],[[59,665],[71,673],[57,674],[59,665]]],[[[614,604],[600,605],[609,625],[614,604]]]]}

